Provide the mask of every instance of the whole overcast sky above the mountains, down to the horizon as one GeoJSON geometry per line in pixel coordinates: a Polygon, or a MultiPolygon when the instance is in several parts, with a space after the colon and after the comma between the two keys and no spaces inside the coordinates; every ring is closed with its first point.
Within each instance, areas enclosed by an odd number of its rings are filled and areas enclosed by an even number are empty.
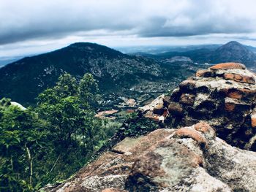
{"type": "Polygon", "coordinates": [[[73,42],[256,46],[255,0],[0,0],[0,58],[73,42]]]}

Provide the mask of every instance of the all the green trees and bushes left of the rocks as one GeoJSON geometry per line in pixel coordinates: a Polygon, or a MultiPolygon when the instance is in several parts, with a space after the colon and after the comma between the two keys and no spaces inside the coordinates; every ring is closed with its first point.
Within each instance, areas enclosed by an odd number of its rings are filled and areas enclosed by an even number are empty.
{"type": "Polygon", "coordinates": [[[94,118],[97,82],[63,74],[26,110],[0,100],[0,191],[36,191],[90,160],[115,125],[94,118]],[[110,125],[110,126],[109,126],[110,125]]]}

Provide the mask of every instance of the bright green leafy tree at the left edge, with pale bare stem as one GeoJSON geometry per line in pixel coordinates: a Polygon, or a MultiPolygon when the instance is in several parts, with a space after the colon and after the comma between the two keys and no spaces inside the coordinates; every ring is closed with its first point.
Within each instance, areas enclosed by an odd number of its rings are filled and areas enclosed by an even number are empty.
{"type": "Polygon", "coordinates": [[[0,100],[0,191],[30,191],[37,183],[34,162],[47,148],[43,125],[31,110],[0,100]]]}

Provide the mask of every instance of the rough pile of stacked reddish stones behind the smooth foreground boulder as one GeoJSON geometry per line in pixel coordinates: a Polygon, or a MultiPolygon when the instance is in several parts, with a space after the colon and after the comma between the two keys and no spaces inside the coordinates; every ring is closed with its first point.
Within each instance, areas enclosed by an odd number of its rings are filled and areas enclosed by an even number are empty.
{"type": "Polygon", "coordinates": [[[165,126],[192,126],[204,120],[231,145],[256,150],[255,80],[254,73],[237,63],[198,71],[165,96],[165,126]]]}

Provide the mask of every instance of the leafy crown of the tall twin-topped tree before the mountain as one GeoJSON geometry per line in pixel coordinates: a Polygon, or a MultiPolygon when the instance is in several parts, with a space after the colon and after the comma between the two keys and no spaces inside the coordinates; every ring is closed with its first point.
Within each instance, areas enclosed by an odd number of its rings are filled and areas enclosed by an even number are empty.
{"type": "MultiPolygon", "coordinates": [[[[100,133],[94,118],[92,103],[96,103],[97,83],[91,74],[78,82],[70,74],[63,74],[54,88],[39,94],[37,112],[49,123],[60,145],[69,147],[72,139],[82,135],[83,146],[94,150],[92,140],[100,133]]],[[[98,120],[99,121],[99,120],[98,120]]]]}

